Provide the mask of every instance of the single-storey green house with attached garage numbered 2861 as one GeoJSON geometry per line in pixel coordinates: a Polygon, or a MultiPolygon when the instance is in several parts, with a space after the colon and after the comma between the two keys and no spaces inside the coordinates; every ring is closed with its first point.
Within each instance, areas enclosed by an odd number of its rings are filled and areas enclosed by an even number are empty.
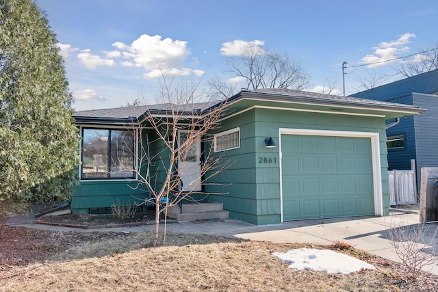
{"type": "MultiPolygon", "coordinates": [[[[193,110],[211,106],[215,105],[200,103],[193,110]]],[[[385,129],[394,118],[425,111],[413,105],[287,89],[242,90],[229,98],[228,107],[230,114],[212,134],[216,154],[234,163],[201,191],[223,194],[209,195],[207,200],[221,203],[229,217],[257,225],[388,215],[385,129]]],[[[114,155],[135,163],[136,145],[128,129],[131,120],[146,110],[159,116],[168,109],[145,105],[75,113],[83,142],[73,213],[105,213],[116,200],[148,196],[141,187],[132,187],[137,185],[134,172],[114,172],[118,166],[112,163],[114,155]],[[131,149],[114,154],[115,141],[131,149]]],[[[144,131],[153,131],[145,126],[144,131]]],[[[149,145],[149,151],[158,148],[159,141],[149,145]]]]}

